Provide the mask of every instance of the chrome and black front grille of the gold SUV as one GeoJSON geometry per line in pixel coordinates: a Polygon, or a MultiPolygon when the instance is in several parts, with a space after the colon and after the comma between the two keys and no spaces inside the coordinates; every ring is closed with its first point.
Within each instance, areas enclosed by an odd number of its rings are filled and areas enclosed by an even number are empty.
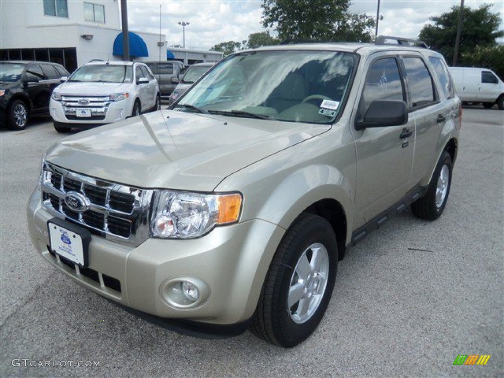
{"type": "Polygon", "coordinates": [[[72,172],[44,162],[43,205],[52,214],[84,226],[94,234],[139,245],[149,237],[152,190],[126,186],[72,172]],[[84,211],[65,202],[69,192],[89,200],[84,211]]]}

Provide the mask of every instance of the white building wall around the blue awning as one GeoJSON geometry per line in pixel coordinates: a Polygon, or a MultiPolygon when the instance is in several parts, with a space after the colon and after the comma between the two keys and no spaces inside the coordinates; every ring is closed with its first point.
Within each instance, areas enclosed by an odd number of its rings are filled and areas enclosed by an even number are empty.
{"type": "MultiPolygon", "coordinates": [[[[120,60],[112,55],[117,34],[121,32],[118,0],[88,0],[101,4],[105,24],[84,20],[84,0],[68,0],[68,18],[44,15],[43,0],[0,0],[0,49],[76,48],[78,66],[91,59],[120,60]],[[92,40],[81,38],[93,36],[92,40]]],[[[142,60],[158,60],[161,52],[166,59],[166,47],[158,46],[159,34],[136,32],[147,45],[149,56],[142,60]]],[[[165,41],[164,35],[161,40],[165,41]]]]}

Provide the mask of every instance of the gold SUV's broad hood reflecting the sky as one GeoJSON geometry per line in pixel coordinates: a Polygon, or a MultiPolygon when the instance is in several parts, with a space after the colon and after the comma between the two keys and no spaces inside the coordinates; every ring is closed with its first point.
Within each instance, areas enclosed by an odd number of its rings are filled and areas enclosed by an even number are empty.
{"type": "Polygon", "coordinates": [[[131,186],[211,192],[226,176],[330,128],[160,110],[66,138],[46,160],[131,186]]]}

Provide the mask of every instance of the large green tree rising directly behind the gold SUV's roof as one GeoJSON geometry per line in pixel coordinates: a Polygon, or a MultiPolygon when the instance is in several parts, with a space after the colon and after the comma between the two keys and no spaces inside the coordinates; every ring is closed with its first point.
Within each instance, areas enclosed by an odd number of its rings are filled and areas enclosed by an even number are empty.
{"type": "Polygon", "coordinates": [[[278,38],[371,40],[375,21],[348,12],[350,0],[263,0],[263,26],[276,27],[278,38]]]}

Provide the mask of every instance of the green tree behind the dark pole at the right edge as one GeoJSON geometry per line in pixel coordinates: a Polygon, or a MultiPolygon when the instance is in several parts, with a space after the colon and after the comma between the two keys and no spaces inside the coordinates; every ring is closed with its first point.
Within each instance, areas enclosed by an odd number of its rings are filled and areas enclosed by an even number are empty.
{"type": "MultiPolygon", "coordinates": [[[[464,23],[459,47],[461,57],[470,56],[476,46],[494,47],[497,45],[495,39],[504,36],[504,31],[499,30],[500,15],[491,13],[490,7],[489,4],[483,4],[478,9],[464,7],[464,23]]],[[[460,7],[453,6],[450,12],[431,17],[430,20],[434,24],[425,25],[418,36],[430,48],[445,55],[448,62],[453,61],[459,12],[460,7]]],[[[458,61],[461,66],[468,64],[463,59],[458,61]]]]}

